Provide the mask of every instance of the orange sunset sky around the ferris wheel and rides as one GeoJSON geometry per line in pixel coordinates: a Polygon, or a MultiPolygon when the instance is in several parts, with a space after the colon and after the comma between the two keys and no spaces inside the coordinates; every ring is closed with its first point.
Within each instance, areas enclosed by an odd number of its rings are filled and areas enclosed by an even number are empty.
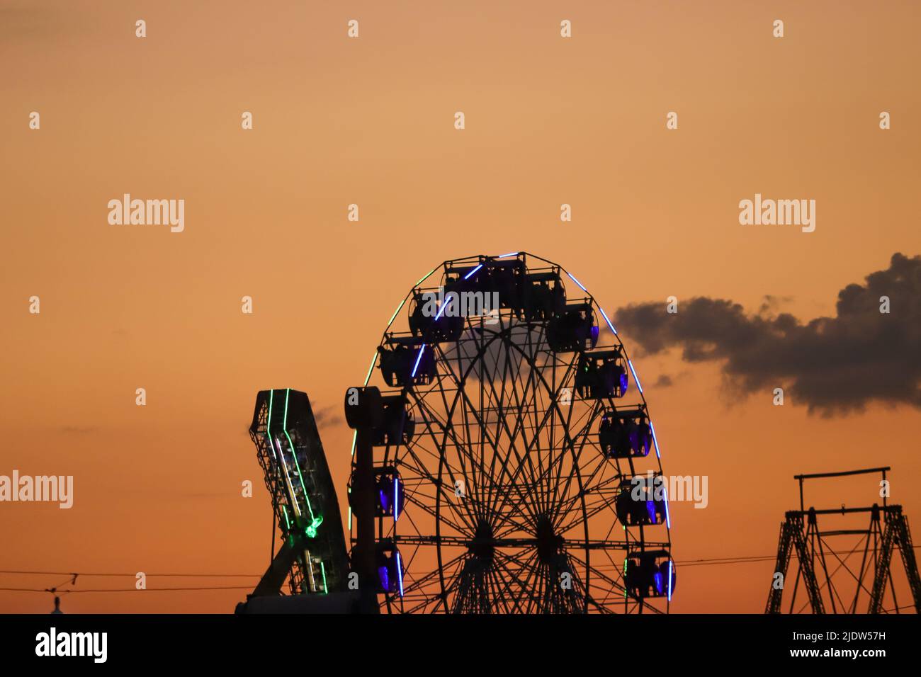
{"type": "MultiPolygon", "coordinates": [[[[262,572],[256,391],[341,414],[399,300],[445,259],[532,251],[606,309],[705,295],[753,311],[770,294],[808,320],[921,250],[917,3],[270,6],[0,6],[0,474],[76,483],[70,510],[0,504],[0,569],[262,572]],[[122,193],[184,199],[184,232],[110,226],[122,193]],[[815,199],[816,231],[741,227],[754,193],[815,199]]],[[[673,507],[679,562],[773,554],[794,473],[892,465],[892,500],[921,519],[916,410],[822,419],[769,392],[730,403],[717,365],[635,364],[675,380],[647,387],[665,473],[709,477],[708,508],[673,507]]],[[[351,433],[321,435],[342,494],[351,433]]],[[[772,569],[680,568],[672,610],[760,613],[772,569]]],[[[228,612],[243,595],[71,594],[64,610],[228,612]]],[[[50,609],[0,591],[0,611],[50,609]]]]}

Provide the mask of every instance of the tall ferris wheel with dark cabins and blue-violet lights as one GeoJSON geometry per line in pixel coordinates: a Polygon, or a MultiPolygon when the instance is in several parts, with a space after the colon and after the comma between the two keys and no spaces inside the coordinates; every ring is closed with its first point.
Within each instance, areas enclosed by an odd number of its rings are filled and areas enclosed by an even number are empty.
{"type": "Polygon", "coordinates": [[[562,266],[441,263],[393,313],[365,387],[381,612],[668,611],[659,441],[612,321],[562,266]]]}

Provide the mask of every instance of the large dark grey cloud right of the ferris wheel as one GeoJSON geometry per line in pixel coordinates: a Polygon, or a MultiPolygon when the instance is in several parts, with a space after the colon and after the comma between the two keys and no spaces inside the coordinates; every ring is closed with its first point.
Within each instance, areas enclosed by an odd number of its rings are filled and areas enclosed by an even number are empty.
{"type": "Polygon", "coordinates": [[[675,314],[641,303],[619,309],[617,325],[647,353],[680,346],[688,362],[722,362],[730,386],[783,387],[810,412],[870,402],[921,408],[921,256],[893,254],[888,269],[845,286],[834,317],[803,324],[767,314],[775,301],[765,298],[755,315],[721,298],[692,298],[675,314]],[[880,313],[880,297],[890,298],[889,314],[880,313]]]}

